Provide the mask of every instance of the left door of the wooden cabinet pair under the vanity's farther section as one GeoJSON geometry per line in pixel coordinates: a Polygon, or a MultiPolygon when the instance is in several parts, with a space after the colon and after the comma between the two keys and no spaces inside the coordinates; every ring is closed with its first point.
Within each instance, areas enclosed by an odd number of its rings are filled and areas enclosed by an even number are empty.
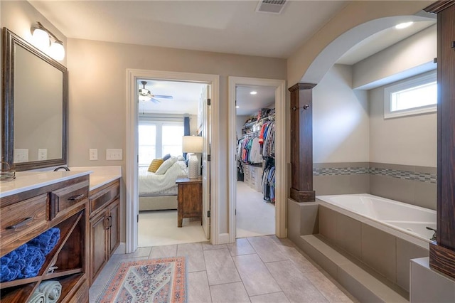
{"type": "Polygon", "coordinates": [[[90,284],[107,262],[107,211],[90,219],[90,284]]]}

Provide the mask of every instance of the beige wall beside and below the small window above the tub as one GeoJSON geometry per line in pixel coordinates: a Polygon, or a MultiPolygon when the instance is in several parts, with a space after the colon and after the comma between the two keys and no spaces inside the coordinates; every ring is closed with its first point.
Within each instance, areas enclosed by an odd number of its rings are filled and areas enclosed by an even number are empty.
{"type": "Polygon", "coordinates": [[[383,90],[378,87],[368,94],[370,162],[436,167],[436,112],[384,119],[383,90]]]}

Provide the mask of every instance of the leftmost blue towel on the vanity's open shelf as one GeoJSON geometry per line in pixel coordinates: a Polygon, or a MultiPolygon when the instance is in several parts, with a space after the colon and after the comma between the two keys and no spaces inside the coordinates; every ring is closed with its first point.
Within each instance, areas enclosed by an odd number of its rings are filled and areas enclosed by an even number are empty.
{"type": "Polygon", "coordinates": [[[16,280],[26,266],[26,261],[23,259],[26,251],[27,245],[23,244],[0,258],[0,282],[16,280]]]}

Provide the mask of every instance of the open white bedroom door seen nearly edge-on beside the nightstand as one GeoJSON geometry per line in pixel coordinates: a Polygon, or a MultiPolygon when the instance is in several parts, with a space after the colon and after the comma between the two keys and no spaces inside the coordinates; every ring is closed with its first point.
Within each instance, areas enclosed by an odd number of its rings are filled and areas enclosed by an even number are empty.
{"type": "Polygon", "coordinates": [[[202,137],[203,139],[203,152],[202,152],[202,226],[205,233],[205,238],[210,239],[210,217],[208,213],[210,211],[210,85],[203,88],[202,94],[200,95],[203,109],[203,127],[202,137]]]}

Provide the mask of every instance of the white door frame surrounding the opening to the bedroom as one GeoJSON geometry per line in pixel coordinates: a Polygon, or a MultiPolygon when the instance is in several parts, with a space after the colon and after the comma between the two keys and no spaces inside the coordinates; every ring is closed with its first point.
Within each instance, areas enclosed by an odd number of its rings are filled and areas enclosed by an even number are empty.
{"type": "MultiPolygon", "coordinates": [[[[170,72],[163,70],[137,70],[127,69],[127,144],[126,144],[126,172],[124,174],[125,187],[125,245],[124,252],[131,253],[137,250],[137,217],[139,215],[138,201],[138,165],[137,165],[137,121],[138,121],[138,97],[139,87],[137,80],[155,79],[155,80],[170,80],[180,82],[205,83],[210,85],[210,110],[209,115],[205,118],[210,125],[210,133],[204,137],[203,144],[203,163],[210,159],[210,170],[205,171],[203,177],[203,190],[208,191],[209,199],[203,201],[203,222],[209,222],[210,228],[205,230],[205,233],[210,235],[210,243],[220,244],[227,243],[228,237],[225,233],[221,233],[220,226],[222,211],[220,211],[219,201],[222,198],[220,195],[221,179],[220,179],[220,138],[219,138],[219,100],[220,100],[220,75],[201,74],[201,73],[183,73],[170,72]],[[207,147],[210,147],[208,149],[207,147]],[[211,176],[211,178],[210,178],[211,176]],[[210,212],[209,212],[210,211],[210,212]],[[211,214],[211,216],[210,216],[211,214]],[[210,220],[207,220],[210,217],[210,220]]],[[[208,167],[208,166],[205,166],[208,167]]],[[[121,249],[122,250],[122,249],[121,249]]],[[[119,251],[121,251],[119,250],[119,251]]]]}

